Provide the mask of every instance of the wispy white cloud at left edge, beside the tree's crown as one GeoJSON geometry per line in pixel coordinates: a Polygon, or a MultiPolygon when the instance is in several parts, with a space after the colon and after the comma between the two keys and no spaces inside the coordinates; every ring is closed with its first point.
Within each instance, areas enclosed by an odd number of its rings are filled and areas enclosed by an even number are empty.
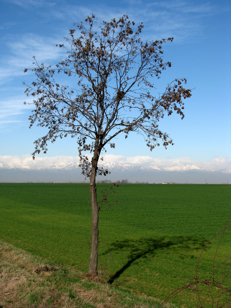
{"type": "MultiPolygon", "coordinates": [[[[1,58],[1,75],[0,84],[2,85],[2,95],[0,99],[0,126],[20,121],[15,119],[16,115],[24,114],[30,105],[23,105],[23,102],[31,103],[32,99],[27,98],[22,93],[26,89],[22,85],[22,81],[28,79],[30,71],[24,74],[24,68],[33,67],[33,56],[36,56],[38,63],[45,65],[56,64],[66,54],[62,48],[56,47],[57,42],[62,43],[62,38],[47,38],[39,35],[25,34],[20,39],[14,40],[13,37],[8,38],[6,43],[9,49],[9,55],[1,58]],[[55,62],[56,61],[56,62],[55,62]],[[19,77],[19,81],[15,78],[19,77]],[[14,84],[14,96],[11,96],[11,88],[14,84]],[[15,96],[15,87],[18,88],[18,94],[15,96]],[[8,89],[8,90],[7,90],[8,89]],[[4,95],[4,92],[6,93],[4,95]]],[[[31,80],[29,81],[31,83],[31,80]]]]}

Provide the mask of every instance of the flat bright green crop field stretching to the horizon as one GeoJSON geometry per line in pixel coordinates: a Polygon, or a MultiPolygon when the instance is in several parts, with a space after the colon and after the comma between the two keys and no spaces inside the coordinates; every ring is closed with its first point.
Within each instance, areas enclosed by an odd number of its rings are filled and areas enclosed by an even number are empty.
{"type": "MultiPolygon", "coordinates": [[[[110,191],[110,184],[97,187],[99,199],[101,189],[110,191]]],[[[108,196],[109,201],[119,202],[108,209],[102,205],[99,211],[99,274],[115,286],[161,300],[193,282],[203,247],[231,215],[230,185],[120,184],[108,196]]],[[[228,228],[213,265],[221,235],[202,254],[200,280],[231,257],[228,228]]],[[[0,240],[87,272],[88,185],[0,184],[0,240]]],[[[219,267],[215,278],[221,279],[223,272],[224,267],[219,267]]],[[[224,284],[231,289],[230,275],[224,284]]],[[[170,302],[193,307],[196,298],[196,291],[186,289],[170,302]]],[[[207,305],[211,306],[209,299],[207,305]]]]}

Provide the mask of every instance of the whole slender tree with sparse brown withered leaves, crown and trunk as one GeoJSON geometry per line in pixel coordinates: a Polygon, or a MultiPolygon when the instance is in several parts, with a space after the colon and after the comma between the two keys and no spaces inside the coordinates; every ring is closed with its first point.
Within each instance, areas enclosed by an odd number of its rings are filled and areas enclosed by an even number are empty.
{"type": "Polygon", "coordinates": [[[41,150],[47,152],[48,141],[53,143],[68,134],[77,138],[79,166],[90,178],[89,274],[95,275],[100,208],[95,177],[108,173],[98,166],[100,155],[106,145],[115,148],[113,139],[121,133],[125,139],[130,132],[142,134],[151,151],[161,142],[165,148],[172,144],[158,122],[173,111],[183,119],[182,99],[190,97],[191,90],[182,86],[185,78],[175,79],[163,93],[153,96],[154,77],[159,79],[161,72],[171,67],[170,62],[162,59],[162,45],[173,38],[143,43],[140,39],[143,24],[135,28],[126,15],[110,22],[98,22],[92,15],[85,22],[87,26],[84,22],[74,24],[75,29],[66,38],[67,46],[59,45],[66,49],[67,57],[55,68],[39,65],[34,57],[35,68],[29,70],[35,73],[36,81],[26,85],[25,93],[33,96],[35,106],[29,118],[30,127],[37,123],[47,128],[47,134],[34,142],[33,158],[41,150]],[[55,74],[61,73],[75,78],[75,87],[59,85],[55,74]],[[92,153],[91,160],[85,152],[92,153]]]}

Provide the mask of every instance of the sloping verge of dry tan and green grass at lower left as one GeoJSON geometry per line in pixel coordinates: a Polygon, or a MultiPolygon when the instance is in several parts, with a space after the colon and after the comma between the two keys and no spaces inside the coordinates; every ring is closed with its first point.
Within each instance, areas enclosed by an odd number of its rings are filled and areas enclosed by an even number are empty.
{"type": "MultiPolygon", "coordinates": [[[[151,307],[144,297],[0,242],[0,307],[151,307]]],[[[156,303],[156,302],[155,302],[156,303]]]]}

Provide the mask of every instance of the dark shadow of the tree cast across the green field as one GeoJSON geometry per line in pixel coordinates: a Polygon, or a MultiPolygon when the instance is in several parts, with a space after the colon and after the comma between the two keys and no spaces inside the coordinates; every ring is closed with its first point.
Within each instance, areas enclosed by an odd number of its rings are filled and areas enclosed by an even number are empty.
{"type": "Polygon", "coordinates": [[[140,238],[138,240],[123,240],[111,243],[111,247],[103,254],[115,252],[118,250],[130,251],[128,262],[119,269],[107,282],[112,284],[120,275],[136,260],[145,257],[148,254],[154,255],[156,251],[171,249],[172,251],[180,251],[185,249],[202,249],[207,240],[195,239],[192,237],[160,237],[153,238],[140,238]]]}

